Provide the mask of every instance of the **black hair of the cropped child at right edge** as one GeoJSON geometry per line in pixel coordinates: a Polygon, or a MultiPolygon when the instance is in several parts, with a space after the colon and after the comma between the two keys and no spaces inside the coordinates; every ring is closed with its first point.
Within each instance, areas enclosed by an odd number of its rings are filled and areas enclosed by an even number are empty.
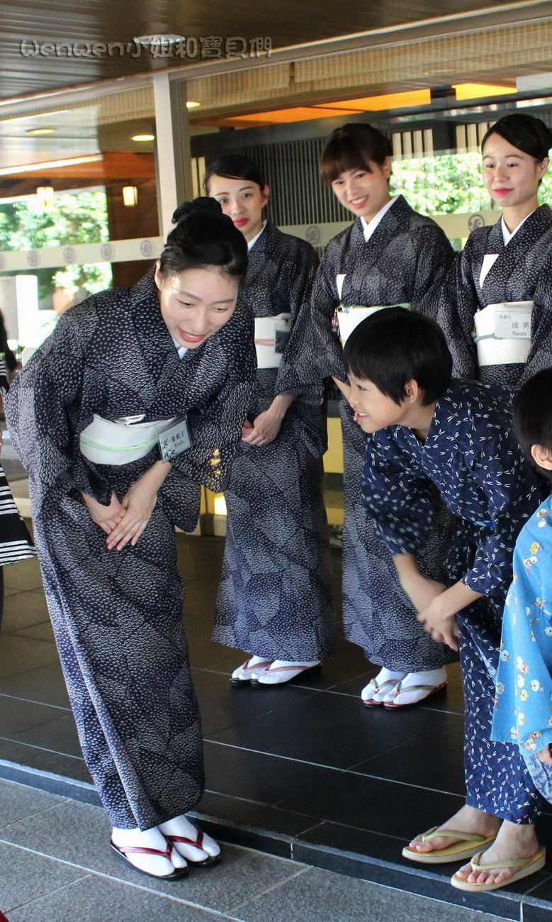
{"type": "Polygon", "coordinates": [[[552,368],[534,374],[514,397],[513,431],[532,464],[533,445],[543,445],[552,453],[552,368]]]}

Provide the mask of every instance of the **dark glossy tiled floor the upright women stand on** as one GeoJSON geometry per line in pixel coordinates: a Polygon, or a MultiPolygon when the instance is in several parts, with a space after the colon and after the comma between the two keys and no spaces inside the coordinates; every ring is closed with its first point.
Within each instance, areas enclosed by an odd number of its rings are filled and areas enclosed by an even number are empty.
{"type": "MultiPolygon", "coordinates": [[[[428,869],[401,857],[406,840],[462,803],[458,668],[450,668],[446,695],[427,706],[370,710],[358,693],[375,669],[340,636],[338,655],[308,681],[232,689],[229,673],[243,654],[209,640],[223,539],[179,535],[178,542],[187,585],[184,623],[206,739],[207,791],[198,807],[206,828],[235,845],[474,911],[544,919],[552,908],[548,871],[519,887],[464,897],[450,887],[448,866],[428,869]]],[[[340,564],[335,550],[337,608],[340,564]]],[[[40,585],[37,561],[6,568],[0,775],[93,805],[98,801],[78,748],[40,585]]],[[[550,815],[541,832],[552,845],[550,815]]],[[[48,854],[66,860],[61,852],[48,854]]],[[[66,887],[69,896],[70,881],[66,887]]]]}

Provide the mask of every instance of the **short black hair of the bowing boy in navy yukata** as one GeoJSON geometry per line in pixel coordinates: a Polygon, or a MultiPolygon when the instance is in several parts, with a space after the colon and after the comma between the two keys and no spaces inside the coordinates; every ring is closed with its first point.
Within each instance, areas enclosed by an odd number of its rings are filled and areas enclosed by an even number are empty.
{"type": "Polygon", "coordinates": [[[451,383],[452,356],[440,326],[404,307],[382,308],[359,323],[346,340],[344,361],[347,371],[399,405],[412,379],[424,392],[424,407],[451,383]]]}

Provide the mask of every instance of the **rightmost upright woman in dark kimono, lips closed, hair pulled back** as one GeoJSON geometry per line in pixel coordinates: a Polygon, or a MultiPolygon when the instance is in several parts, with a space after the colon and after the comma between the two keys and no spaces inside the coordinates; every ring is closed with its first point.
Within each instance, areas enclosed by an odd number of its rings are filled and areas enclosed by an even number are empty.
{"type": "Polygon", "coordinates": [[[483,178],[502,216],[472,231],[441,291],[438,320],[457,377],[512,391],[552,363],[552,210],[537,201],[550,147],[552,132],[524,112],[483,138],[483,178]],[[504,302],[510,321],[498,317],[504,302]]]}

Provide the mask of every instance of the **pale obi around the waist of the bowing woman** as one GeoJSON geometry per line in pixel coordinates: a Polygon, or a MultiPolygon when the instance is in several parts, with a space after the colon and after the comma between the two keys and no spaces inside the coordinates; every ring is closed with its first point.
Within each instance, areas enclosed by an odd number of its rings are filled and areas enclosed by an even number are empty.
{"type": "MultiPolygon", "coordinates": [[[[145,457],[157,444],[164,457],[163,442],[170,438],[175,447],[172,456],[190,447],[190,437],[185,419],[138,422],[138,417],[121,420],[104,420],[94,413],[92,422],[80,433],[80,450],[93,464],[123,465],[145,457]]],[[[170,460],[166,457],[165,460],[170,460]]]]}

